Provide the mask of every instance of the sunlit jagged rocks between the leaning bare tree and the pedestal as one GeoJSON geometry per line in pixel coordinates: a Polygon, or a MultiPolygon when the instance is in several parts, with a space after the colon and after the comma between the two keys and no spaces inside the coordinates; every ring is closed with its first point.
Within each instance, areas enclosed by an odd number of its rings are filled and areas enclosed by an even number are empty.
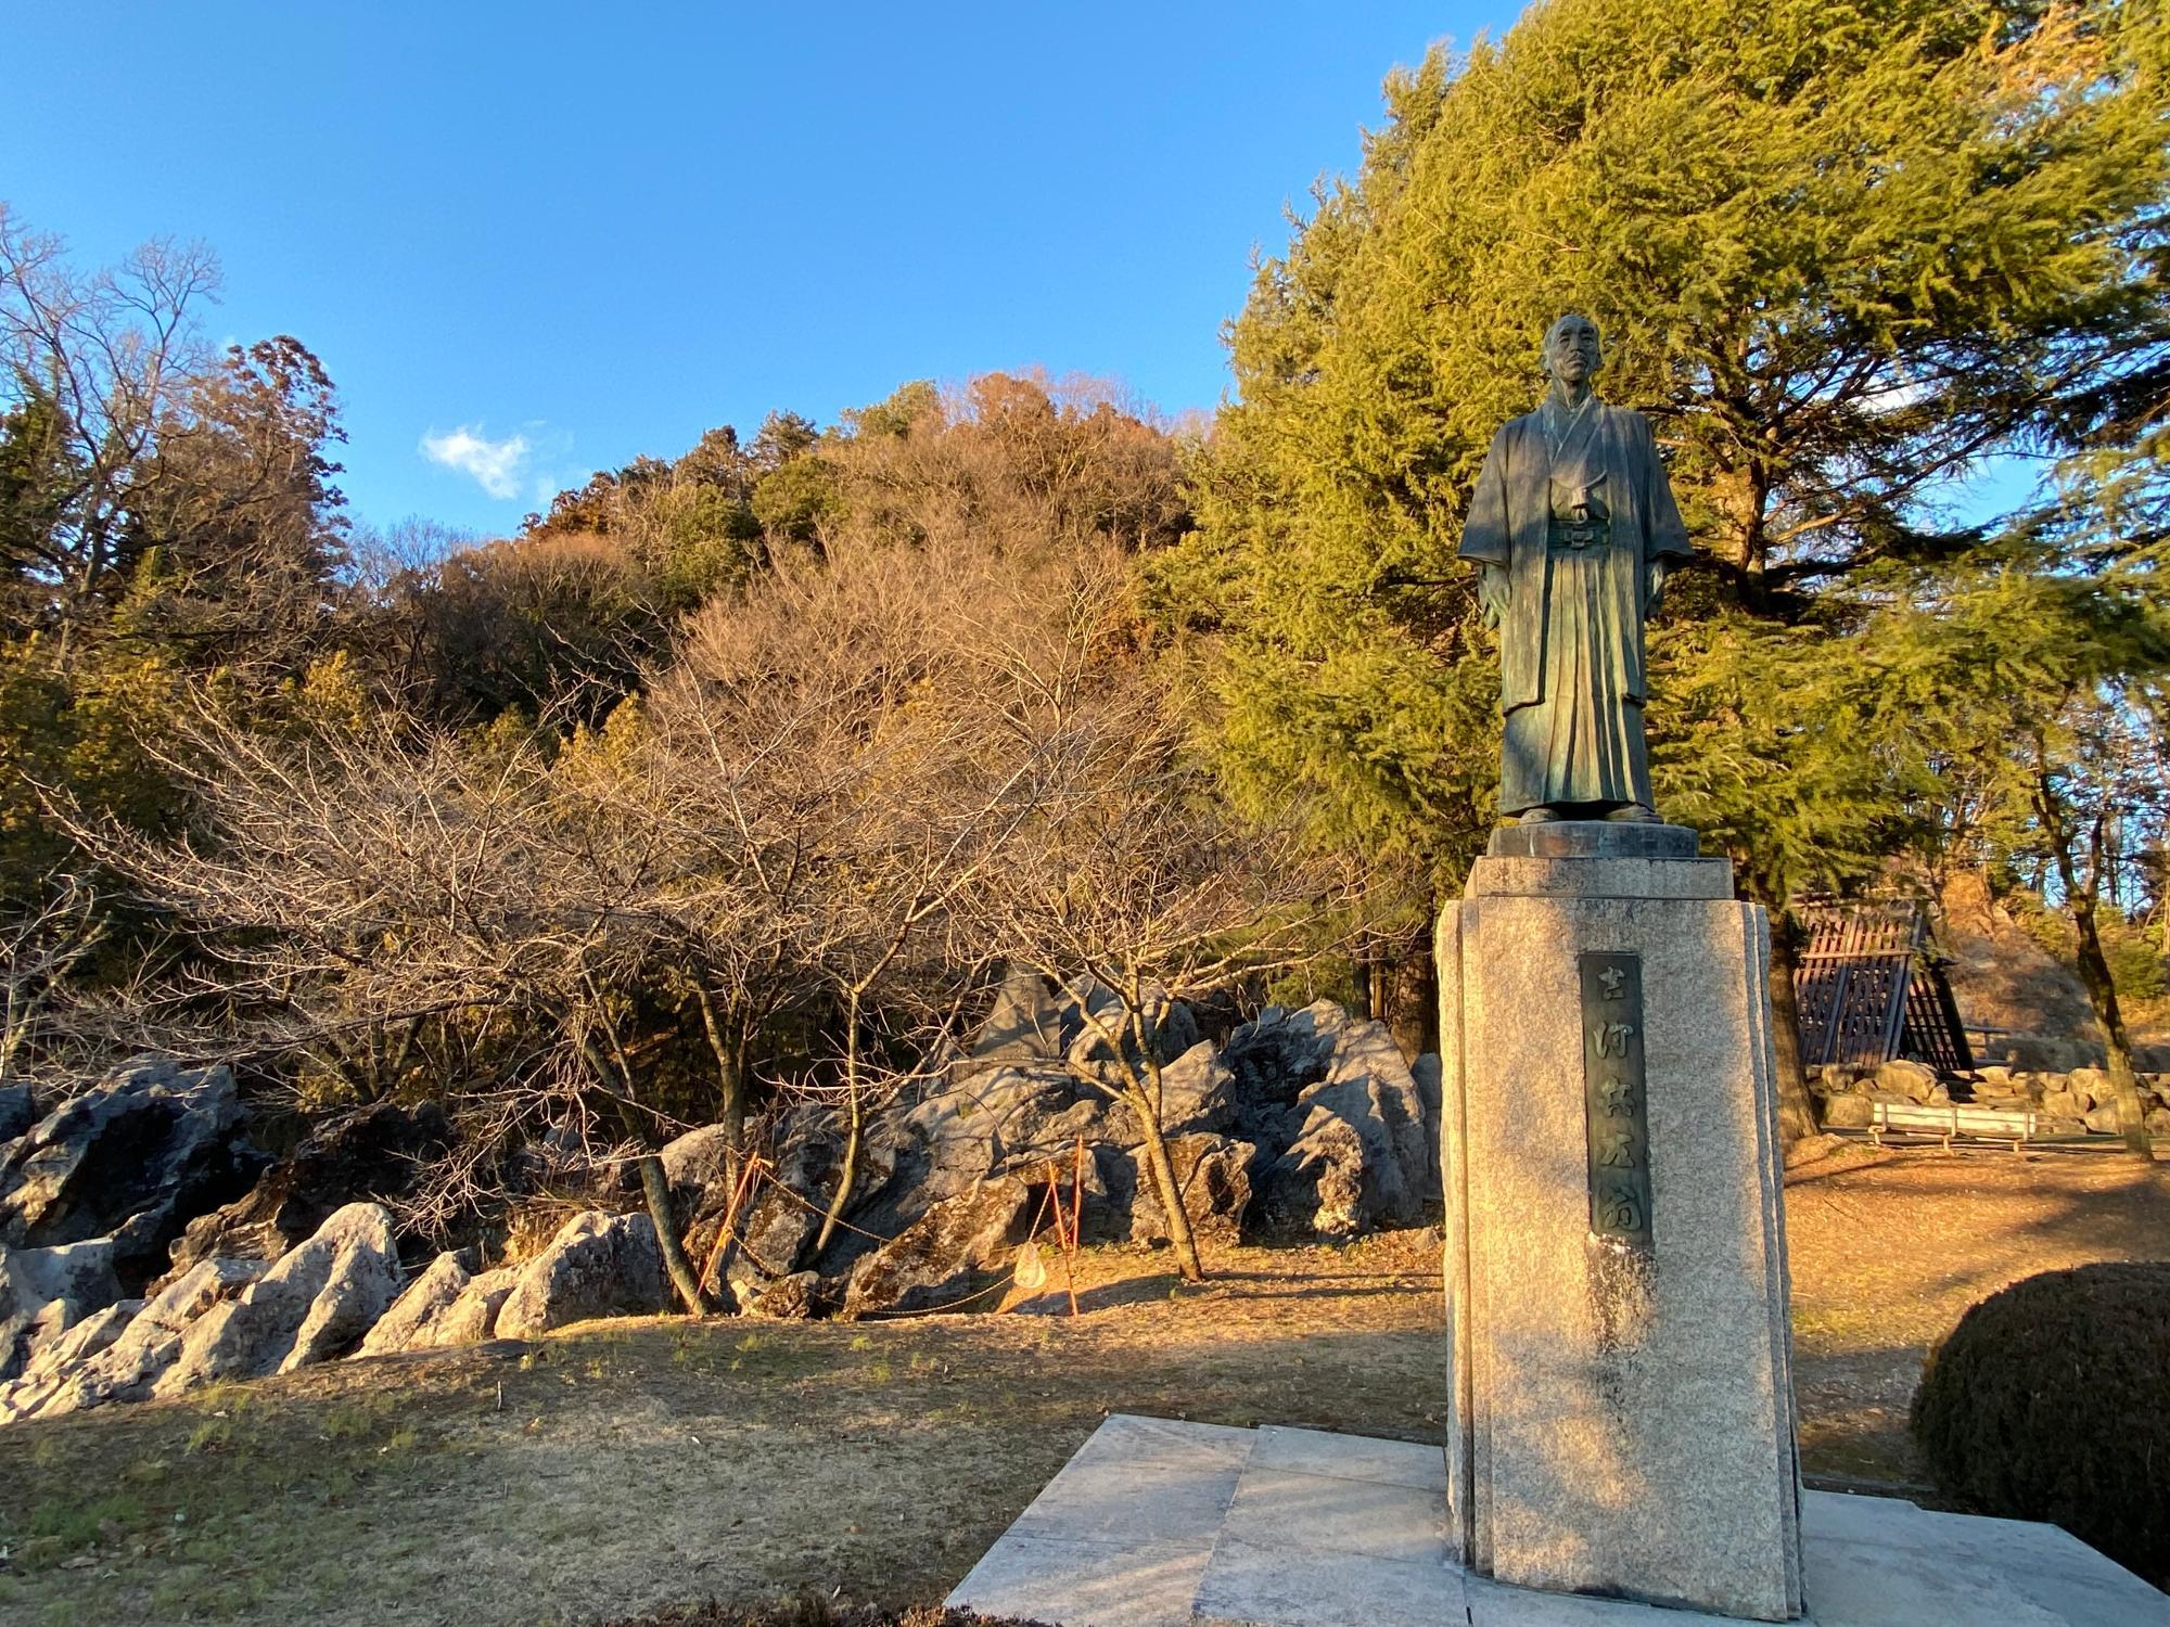
{"type": "MultiPolygon", "coordinates": [[[[820,1258],[807,1258],[807,1250],[833,1193],[840,1141],[812,1115],[786,1128],[792,1152],[777,1169],[783,1191],[770,1189],[755,1204],[733,1265],[742,1302],[768,1315],[786,1306],[896,1315],[979,1304],[987,1239],[1003,1230],[985,1219],[990,1193],[1005,1193],[1007,1204],[1007,1193],[1022,1189],[1033,1210],[1022,1224],[1031,1226],[1048,1187],[1068,1200],[1078,1176],[1085,1241],[1165,1239],[1137,1117],[1089,1082],[1094,1063],[1074,1050],[1083,1017],[1072,1026],[1063,1011],[1078,996],[1044,994],[1035,1004],[1035,985],[1005,985],[950,1089],[870,1126],[861,1182],[844,1210],[851,1230],[820,1258]],[[907,1258],[911,1267],[901,1269],[907,1258]],[[805,1271],[814,1271],[814,1284],[762,1302],[783,1278],[805,1271]]],[[[1189,1037],[1196,1024],[1185,1015],[1167,1033],[1189,1037]]],[[[1167,1059],[1161,1117],[1183,1208],[1207,1239],[1341,1239],[1415,1226],[1439,1187],[1437,1126],[1428,1128],[1415,1072],[1384,1024],[1352,1020],[1328,1000],[1302,1011],[1267,1009],[1226,1048],[1196,1041],[1167,1059]]],[[[688,1148],[679,1165],[692,1163],[688,1148]]],[[[703,1217],[720,1217],[714,1193],[710,1187],[701,1200],[703,1217]]],[[[703,1232],[697,1224],[697,1258],[712,1239],[714,1226],[703,1232]]]]}

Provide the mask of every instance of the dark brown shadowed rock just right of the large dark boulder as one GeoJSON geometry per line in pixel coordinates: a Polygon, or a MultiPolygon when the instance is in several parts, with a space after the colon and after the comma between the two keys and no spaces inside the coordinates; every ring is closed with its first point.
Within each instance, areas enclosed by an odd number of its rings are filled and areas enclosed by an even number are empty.
{"type": "MultiPolygon", "coordinates": [[[[197,1260],[276,1260],[356,1202],[386,1202],[412,1189],[421,1165],[445,1150],[451,1124],[425,1102],[378,1102],[341,1119],[280,1158],[234,1202],[197,1215],[171,1247],[171,1282],[197,1260]]],[[[154,1284],[156,1286],[156,1284],[154,1284]]]]}

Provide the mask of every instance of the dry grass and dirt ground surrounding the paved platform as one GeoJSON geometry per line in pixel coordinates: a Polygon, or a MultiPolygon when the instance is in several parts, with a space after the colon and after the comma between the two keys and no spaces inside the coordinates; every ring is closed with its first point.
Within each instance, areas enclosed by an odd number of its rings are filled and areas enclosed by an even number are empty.
{"type": "MultiPolygon", "coordinates": [[[[2170,1171],[1986,1152],[1788,1182],[1805,1466],[1907,1486],[1929,1341],[2170,1258],[2170,1171]]],[[[1111,1410],[1441,1440],[1437,1234],[1096,1250],[1085,1315],[590,1323],[0,1432],[0,1623],[595,1623],[940,1599],[1111,1410]]]]}

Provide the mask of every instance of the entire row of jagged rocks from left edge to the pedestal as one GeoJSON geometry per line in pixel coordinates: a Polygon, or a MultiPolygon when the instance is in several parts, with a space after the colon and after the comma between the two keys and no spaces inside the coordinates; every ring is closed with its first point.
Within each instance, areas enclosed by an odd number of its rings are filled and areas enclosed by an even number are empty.
{"type": "MultiPolygon", "coordinates": [[[[1005,985],[942,1089],[872,1115],[827,1243],[844,1137],[825,1109],[788,1115],[738,1217],[740,1308],[994,1310],[1057,1193],[1081,1200],[1085,1241],[1163,1241],[1144,1128],[1102,1072],[1092,1017],[1109,1024],[1109,1004],[1098,987],[1005,985]]],[[[1421,1219],[1437,1191],[1437,1065],[1413,1072],[1382,1024],[1322,1000],[1267,1009],[1215,1048],[1172,1007],[1152,1050],[1200,1239],[1354,1237],[1421,1219]]],[[[655,1226],[608,1213],[638,1202],[610,1180],[534,1258],[475,1271],[445,1252],[408,1282],[373,1200],[406,1191],[445,1148],[434,1109],[378,1106],[271,1163],[247,1141],[226,1069],[143,1063],[43,1117],[26,1091],[0,1093],[0,1124],[22,1126],[0,1141],[0,1423],[668,1304],[655,1226]]],[[[705,1263],[738,1161],[718,1126],[660,1156],[675,1224],[705,1263]]]]}

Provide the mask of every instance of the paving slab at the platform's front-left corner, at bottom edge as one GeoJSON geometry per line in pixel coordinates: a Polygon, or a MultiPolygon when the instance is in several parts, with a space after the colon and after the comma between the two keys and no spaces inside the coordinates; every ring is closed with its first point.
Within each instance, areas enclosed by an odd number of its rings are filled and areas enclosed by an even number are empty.
{"type": "Polygon", "coordinates": [[[1011,1525],[948,1605],[1050,1627],[1191,1627],[1209,1553],[1204,1542],[1087,1542],[1011,1525]]]}

